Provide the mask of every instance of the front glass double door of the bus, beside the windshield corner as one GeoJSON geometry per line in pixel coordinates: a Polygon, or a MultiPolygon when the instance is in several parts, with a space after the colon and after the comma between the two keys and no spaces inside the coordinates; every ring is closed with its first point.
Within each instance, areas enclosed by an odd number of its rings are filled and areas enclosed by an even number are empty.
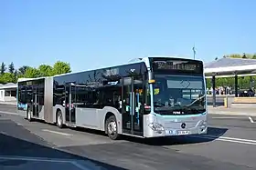
{"type": "Polygon", "coordinates": [[[123,133],[143,136],[143,78],[123,78],[123,133]]]}

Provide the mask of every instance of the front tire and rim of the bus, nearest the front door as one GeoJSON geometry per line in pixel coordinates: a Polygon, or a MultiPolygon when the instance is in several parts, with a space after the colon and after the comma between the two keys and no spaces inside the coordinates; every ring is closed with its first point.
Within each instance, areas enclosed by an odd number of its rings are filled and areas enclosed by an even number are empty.
{"type": "Polygon", "coordinates": [[[106,120],[106,131],[108,136],[112,140],[117,140],[119,138],[118,130],[117,130],[117,122],[116,118],[114,115],[111,115],[107,120],[106,120]]]}

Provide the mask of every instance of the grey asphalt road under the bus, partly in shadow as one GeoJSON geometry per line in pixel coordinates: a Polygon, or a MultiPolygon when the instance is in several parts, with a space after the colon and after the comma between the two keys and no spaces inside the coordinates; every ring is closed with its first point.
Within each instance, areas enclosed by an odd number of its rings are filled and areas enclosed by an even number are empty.
{"type": "Polygon", "coordinates": [[[256,169],[256,123],[246,116],[209,115],[208,135],[112,141],[95,131],[28,123],[15,112],[0,105],[0,169],[256,169]]]}

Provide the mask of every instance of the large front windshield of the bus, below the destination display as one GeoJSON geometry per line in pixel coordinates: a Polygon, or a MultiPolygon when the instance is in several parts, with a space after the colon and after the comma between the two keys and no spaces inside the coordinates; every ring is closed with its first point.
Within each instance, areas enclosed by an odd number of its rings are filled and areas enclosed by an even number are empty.
{"type": "Polygon", "coordinates": [[[203,75],[155,75],[154,107],[160,115],[201,114],[206,111],[203,75]]]}

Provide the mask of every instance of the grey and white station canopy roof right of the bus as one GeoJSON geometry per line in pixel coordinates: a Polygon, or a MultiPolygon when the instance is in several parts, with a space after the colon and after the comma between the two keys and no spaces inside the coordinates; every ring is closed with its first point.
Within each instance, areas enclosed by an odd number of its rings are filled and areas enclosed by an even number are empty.
{"type": "Polygon", "coordinates": [[[205,75],[211,78],[256,75],[256,59],[220,58],[205,64],[205,75]]]}

